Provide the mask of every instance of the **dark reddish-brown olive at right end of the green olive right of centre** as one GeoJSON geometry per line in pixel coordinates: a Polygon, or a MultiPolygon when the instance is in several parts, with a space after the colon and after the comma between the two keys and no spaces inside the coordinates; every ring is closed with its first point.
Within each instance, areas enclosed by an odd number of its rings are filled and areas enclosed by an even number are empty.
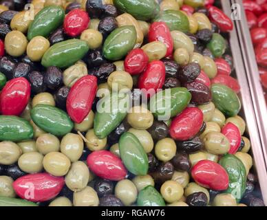
{"type": "Polygon", "coordinates": [[[193,104],[207,104],[211,101],[211,91],[209,87],[202,83],[191,82],[185,83],[184,87],[191,93],[191,103],[193,104]]]}

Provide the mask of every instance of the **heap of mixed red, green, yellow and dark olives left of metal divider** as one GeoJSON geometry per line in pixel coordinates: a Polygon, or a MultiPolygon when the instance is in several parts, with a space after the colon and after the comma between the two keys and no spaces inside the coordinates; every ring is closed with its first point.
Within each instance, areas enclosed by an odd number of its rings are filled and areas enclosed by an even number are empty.
{"type": "Polygon", "coordinates": [[[264,206],[233,29],[213,0],[1,0],[0,206],[264,206]]]}

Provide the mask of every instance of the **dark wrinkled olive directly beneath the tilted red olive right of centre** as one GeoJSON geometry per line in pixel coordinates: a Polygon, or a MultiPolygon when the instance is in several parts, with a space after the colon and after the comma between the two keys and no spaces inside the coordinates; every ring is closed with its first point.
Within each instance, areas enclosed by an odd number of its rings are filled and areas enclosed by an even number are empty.
{"type": "Polygon", "coordinates": [[[176,146],[178,151],[185,151],[186,153],[195,153],[196,151],[200,151],[203,148],[204,144],[200,137],[193,137],[192,140],[176,142],[176,146]]]}

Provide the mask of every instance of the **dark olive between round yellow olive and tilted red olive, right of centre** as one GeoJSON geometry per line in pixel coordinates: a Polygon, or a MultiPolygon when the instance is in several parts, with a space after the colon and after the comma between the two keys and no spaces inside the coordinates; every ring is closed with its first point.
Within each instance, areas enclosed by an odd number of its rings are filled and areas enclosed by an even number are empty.
{"type": "Polygon", "coordinates": [[[169,128],[164,122],[154,120],[152,126],[147,129],[153,140],[162,140],[169,134],[169,128]]]}

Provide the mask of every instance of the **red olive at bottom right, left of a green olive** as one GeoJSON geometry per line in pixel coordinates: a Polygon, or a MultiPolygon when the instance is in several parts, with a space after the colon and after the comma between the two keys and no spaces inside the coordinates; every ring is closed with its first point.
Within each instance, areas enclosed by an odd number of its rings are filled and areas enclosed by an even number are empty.
{"type": "Polygon", "coordinates": [[[205,188],[212,190],[226,190],[229,179],[226,170],[209,159],[200,160],[191,170],[195,182],[205,188]]]}

